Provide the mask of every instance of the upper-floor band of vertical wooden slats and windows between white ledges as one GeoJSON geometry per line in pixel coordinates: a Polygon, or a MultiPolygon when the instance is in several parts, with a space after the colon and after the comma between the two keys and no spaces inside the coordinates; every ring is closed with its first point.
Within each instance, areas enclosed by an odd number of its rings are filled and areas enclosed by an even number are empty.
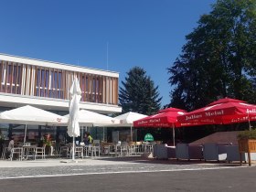
{"type": "Polygon", "coordinates": [[[82,91],[81,101],[118,104],[118,78],[64,69],[45,69],[3,60],[0,60],[0,70],[0,91],[3,92],[69,100],[69,88],[77,76],[82,91]]]}

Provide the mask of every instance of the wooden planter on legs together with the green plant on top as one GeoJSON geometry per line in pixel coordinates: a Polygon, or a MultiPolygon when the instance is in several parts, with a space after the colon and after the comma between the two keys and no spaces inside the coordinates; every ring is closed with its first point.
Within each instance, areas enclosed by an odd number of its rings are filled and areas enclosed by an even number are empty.
{"type": "Polygon", "coordinates": [[[251,166],[251,153],[256,152],[256,130],[240,132],[237,138],[240,149],[240,164],[241,154],[248,153],[248,161],[251,166]]]}

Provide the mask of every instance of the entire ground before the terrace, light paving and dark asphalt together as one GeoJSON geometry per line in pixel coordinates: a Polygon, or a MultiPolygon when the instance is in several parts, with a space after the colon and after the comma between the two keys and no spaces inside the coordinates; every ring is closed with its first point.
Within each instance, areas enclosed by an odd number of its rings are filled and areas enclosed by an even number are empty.
{"type": "Polygon", "coordinates": [[[105,158],[79,163],[0,161],[0,165],[1,192],[255,191],[256,188],[256,166],[238,164],[105,158]]]}

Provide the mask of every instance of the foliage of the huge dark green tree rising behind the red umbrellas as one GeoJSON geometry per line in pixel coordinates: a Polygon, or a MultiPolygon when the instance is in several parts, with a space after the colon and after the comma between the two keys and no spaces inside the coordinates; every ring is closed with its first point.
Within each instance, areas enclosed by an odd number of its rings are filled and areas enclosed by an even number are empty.
{"type": "Polygon", "coordinates": [[[256,0],[218,0],[168,69],[171,106],[194,110],[219,97],[256,102],[256,0]]]}

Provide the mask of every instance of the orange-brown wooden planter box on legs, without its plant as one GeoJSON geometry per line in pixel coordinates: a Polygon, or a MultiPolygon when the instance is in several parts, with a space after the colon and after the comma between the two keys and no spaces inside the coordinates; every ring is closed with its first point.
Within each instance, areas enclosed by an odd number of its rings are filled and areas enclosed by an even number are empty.
{"type": "Polygon", "coordinates": [[[241,154],[248,153],[248,161],[251,166],[251,153],[256,153],[256,139],[240,139],[238,140],[240,149],[240,165],[241,165],[241,154]]]}

